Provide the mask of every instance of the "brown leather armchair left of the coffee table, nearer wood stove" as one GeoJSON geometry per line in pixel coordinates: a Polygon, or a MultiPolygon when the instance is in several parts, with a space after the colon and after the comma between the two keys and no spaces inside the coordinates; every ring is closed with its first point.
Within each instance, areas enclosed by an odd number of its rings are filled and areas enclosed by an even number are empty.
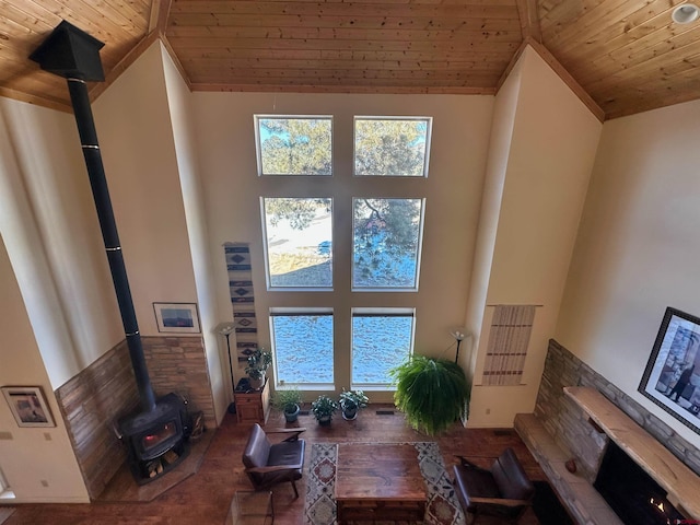
{"type": "Polygon", "coordinates": [[[281,443],[272,444],[258,423],[253,425],[248,443],[243,452],[243,465],[255,490],[269,489],[273,485],[291,481],[299,498],[296,481],[302,478],[304,466],[304,440],[299,434],[306,429],[279,429],[272,433],[291,434],[281,443]]]}

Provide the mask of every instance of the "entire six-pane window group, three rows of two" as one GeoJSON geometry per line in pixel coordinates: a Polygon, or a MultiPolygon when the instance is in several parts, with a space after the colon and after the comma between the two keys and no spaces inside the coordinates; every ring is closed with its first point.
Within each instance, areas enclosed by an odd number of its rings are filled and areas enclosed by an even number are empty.
{"type": "Polygon", "coordinates": [[[339,159],[332,126],[255,116],[276,386],[387,390],[413,351],[432,118],[357,116],[339,159]]]}

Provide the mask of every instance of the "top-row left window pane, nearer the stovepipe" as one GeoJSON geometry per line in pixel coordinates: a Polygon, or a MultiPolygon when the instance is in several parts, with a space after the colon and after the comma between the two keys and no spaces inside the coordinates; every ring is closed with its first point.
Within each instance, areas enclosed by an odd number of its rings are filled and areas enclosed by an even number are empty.
{"type": "Polygon", "coordinates": [[[255,116],[258,175],[332,175],[332,118],[255,116]]]}

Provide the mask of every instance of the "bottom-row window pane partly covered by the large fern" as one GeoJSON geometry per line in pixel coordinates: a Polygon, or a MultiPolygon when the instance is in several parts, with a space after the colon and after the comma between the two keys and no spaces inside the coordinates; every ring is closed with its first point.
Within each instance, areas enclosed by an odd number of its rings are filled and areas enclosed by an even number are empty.
{"type": "Polygon", "coordinates": [[[412,310],[352,310],[352,388],[389,386],[389,370],[412,351],[412,310]]]}

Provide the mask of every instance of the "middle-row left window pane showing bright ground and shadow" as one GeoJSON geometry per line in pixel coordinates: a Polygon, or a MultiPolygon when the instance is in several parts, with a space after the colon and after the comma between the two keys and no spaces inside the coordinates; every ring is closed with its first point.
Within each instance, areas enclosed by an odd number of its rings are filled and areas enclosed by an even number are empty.
{"type": "Polygon", "coordinates": [[[331,200],[264,198],[262,213],[268,288],[331,288],[331,200]]]}

